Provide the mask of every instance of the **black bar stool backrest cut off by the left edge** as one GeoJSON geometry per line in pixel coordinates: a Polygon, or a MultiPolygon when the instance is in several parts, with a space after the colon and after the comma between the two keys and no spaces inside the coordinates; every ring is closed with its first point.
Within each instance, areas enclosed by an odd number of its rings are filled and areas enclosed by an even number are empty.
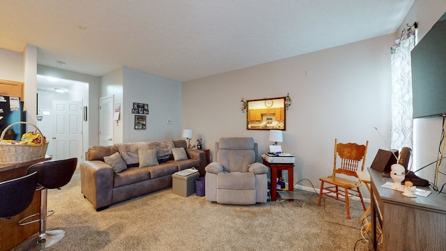
{"type": "Polygon", "coordinates": [[[33,172],[0,183],[0,218],[11,218],[25,211],[33,201],[38,174],[33,172]]]}

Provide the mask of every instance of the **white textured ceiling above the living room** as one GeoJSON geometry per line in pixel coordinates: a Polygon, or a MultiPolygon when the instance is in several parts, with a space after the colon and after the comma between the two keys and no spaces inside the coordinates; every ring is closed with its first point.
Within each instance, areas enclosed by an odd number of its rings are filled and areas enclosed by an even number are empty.
{"type": "Polygon", "coordinates": [[[0,47],[36,45],[39,64],[77,73],[185,82],[394,33],[413,2],[2,0],[0,47]]]}

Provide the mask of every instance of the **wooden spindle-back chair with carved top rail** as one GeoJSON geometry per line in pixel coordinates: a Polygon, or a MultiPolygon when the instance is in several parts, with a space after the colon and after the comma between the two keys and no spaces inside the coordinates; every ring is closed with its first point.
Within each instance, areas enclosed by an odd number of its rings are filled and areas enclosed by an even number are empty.
{"type": "Polygon", "coordinates": [[[319,192],[318,206],[321,206],[322,195],[325,195],[346,204],[347,219],[350,219],[351,202],[361,201],[364,211],[366,210],[360,191],[362,183],[357,177],[356,171],[359,166],[361,171],[364,171],[368,146],[369,141],[365,145],[359,145],[356,143],[337,143],[337,139],[334,139],[333,172],[331,176],[319,178],[321,190],[319,192]],[[360,162],[362,162],[361,165],[360,162]],[[328,186],[325,187],[325,185],[328,186]],[[359,197],[359,199],[349,201],[351,197],[359,197]]]}

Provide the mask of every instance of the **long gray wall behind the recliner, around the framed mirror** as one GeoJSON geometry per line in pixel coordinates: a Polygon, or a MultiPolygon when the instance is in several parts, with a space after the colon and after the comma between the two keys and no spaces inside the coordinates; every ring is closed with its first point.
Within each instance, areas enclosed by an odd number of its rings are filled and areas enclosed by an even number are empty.
{"type": "MultiPolygon", "coordinates": [[[[332,172],[334,139],[365,144],[367,166],[390,142],[390,47],[394,34],[183,83],[183,128],[211,149],[220,137],[254,137],[268,151],[268,131],[246,129],[240,99],[286,96],[282,149],[295,155],[294,182],[332,172]],[[307,74],[308,73],[308,74],[307,74]]],[[[299,185],[311,187],[305,181],[299,185]]],[[[366,192],[368,194],[368,192],[366,192]]]]}

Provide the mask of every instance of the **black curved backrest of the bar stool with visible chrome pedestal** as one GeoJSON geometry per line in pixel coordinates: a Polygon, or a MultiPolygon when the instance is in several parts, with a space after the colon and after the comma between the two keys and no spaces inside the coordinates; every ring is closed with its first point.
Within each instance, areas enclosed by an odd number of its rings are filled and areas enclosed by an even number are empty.
{"type": "Polygon", "coordinates": [[[47,160],[28,168],[28,173],[38,173],[38,183],[47,189],[61,188],[71,181],[77,165],[77,158],[47,160]]]}

